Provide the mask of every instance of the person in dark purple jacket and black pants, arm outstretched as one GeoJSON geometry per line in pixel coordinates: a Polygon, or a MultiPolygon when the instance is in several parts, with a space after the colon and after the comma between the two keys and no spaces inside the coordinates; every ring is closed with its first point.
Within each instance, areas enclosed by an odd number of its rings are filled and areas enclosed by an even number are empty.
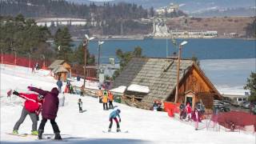
{"type": "Polygon", "coordinates": [[[41,90],[36,87],[28,86],[28,89],[38,94],[42,94],[44,97],[44,102],[42,104],[42,121],[38,128],[38,139],[42,139],[42,134],[44,131],[44,127],[48,119],[50,119],[50,124],[53,127],[55,137],[54,139],[61,140],[62,137],[59,134],[60,130],[58,129],[58,125],[55,122],[55,118],[58,113],[58,89],[54,87],[50,91],[41,90]]]}

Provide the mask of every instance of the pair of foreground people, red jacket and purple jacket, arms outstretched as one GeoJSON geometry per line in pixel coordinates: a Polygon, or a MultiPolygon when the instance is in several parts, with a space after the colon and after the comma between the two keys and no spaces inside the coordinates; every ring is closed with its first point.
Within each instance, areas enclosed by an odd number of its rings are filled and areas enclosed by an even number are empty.
{"type": "Polygon", "coordinates": [[[58,94],[59,91],[56,87],[54,87],[50,91],[38,89],[36,87],[28,86],[30,91],[34,91],[36,94],[25,94],[18,93],[18,91],[14,90],[13,94],[18,97],[24,98],[26,101],[24,102],[24,107],[22,109],[22,115],[16,122],[13,130],[13,134],[18,134],[18,128],[24,122],[26,115],[29,114],[32,121],[32,131],[31,134],[38,135],[38,139],[42,139],[42,134],[44,132],[44,127],[46,125],[47,120],[50,120],[50,124],[53,127],[55,137],[54,139],[60,140],[62,139],[60,135],[60,130],[58,129],[58,125],[55,122],[55,118],[58,113],[58,94]],[[37,130],[38,115],[42,111],[42,121],[37,130]]]}

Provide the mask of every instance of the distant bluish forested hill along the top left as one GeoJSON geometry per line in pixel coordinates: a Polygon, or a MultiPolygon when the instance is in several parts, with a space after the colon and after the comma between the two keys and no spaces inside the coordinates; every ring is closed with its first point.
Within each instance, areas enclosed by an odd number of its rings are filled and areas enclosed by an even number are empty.
{"type": "Polygon", "coordinates": [[[15,16],[22,14],[25,17],[70,17],[98,19],[134,19],[146,18],[147,10],[142,6],[130,3],[111,4],[106,2],[96,6],[75,4],[64,0],[0,0],[0,14],[15,16]]]}

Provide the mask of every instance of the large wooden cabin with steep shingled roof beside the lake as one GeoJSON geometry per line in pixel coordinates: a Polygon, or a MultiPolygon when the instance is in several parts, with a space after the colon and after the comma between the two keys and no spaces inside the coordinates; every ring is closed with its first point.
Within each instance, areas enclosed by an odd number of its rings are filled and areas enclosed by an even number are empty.
{"type": "MultiPolygon", "coordinates": [[[[130,106],[150,109],[156,100],[174,102],[177,62],[177,58],[132,58],[115,79],[113,87],[128,87],[124,91],[122,102],[130,106]],[[132,85],[138,86],[129,89],[132,85]]],[[[192,60],[181,60],[178,86],[178,102],[190,102],[193,109],[197,102],[202,102],[206,109],[212,109],[214,99],[222,98],[192,60]]]]}

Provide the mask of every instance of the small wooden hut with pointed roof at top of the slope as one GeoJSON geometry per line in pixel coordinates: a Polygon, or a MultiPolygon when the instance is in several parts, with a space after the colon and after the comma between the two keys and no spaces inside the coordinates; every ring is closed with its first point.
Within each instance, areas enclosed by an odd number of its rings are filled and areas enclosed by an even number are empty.
{"type": "Polygon", "coordinates": [[[65,60],[55,60],[48,69],[51,70],[55,79],[61,78],[62,81],[66,81],[71,74],[71,66],[65,60]]]}

